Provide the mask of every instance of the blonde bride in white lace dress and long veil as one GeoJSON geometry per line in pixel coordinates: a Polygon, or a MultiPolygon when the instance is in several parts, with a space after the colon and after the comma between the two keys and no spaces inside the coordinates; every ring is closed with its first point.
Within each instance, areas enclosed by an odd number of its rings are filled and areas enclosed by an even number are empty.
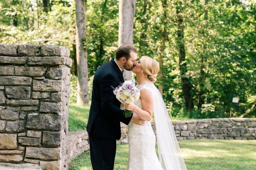
{"type": "Polygon", "coordinates": [[[132,121],[128,125],[127,170],[187,170],[164,100],[154,85],[158,71],[158,62],[148,56],[142,56],[132,69],[137,77],[140,99],[124,106],[145,120],[145,125],[132,121]],[[156,137],[150,123],[153,113],[156,137]],[[155,150],[156,138],[159,159],[155,150]]]}

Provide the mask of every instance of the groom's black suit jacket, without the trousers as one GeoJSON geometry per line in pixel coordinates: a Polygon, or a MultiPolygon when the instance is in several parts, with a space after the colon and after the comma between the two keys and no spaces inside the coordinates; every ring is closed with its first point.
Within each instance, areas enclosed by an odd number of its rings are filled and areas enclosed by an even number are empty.
{"type": "Polygon", "coordinates": [[[116,99],[113,87],[124,82],[118,65],[112,59],[102,64],[95,72],[92,83],[92,104],[87,123],[90,136],[99,138],[121,138],[120,122],[129,124],[132,117],[125,118],[121,102],[116,99]]]}

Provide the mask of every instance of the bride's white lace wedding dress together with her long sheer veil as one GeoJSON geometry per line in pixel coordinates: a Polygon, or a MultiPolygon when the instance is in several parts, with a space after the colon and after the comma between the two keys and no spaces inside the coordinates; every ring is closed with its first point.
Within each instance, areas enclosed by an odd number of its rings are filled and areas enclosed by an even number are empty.
{"type": "MultiPolygon", "coordinates": [[[[127,170],[187,170],[162,95],[153,83],[149,83],[137,85],[137,88],[147,89],[153,96],[159,159],[156,155],[156,137],[151,123],[145,121],[145,125],[138,125],[131,121],[128,125],[127,170]]],[[[134,104],[142,108],[140,98],[134,104]]]]}

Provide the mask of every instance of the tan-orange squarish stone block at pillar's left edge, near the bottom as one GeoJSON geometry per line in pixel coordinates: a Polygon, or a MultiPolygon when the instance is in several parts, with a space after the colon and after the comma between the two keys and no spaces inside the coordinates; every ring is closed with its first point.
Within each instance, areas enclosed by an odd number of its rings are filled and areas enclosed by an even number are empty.
{"type": "Polygon", "coordinates": [[[0,133],[0,149],[17,149],[17,134],[0,133]]]}

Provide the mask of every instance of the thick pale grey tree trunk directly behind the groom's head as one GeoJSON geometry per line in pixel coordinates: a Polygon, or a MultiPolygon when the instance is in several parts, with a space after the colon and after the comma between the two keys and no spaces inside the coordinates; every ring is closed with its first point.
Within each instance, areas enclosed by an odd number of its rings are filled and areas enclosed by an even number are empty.
{"type": "MultiPolygon", "coordinates": [[[[119,1],[119,34],[118,47],[124,44],[133,44],[133,18],[135,14],[136,0],[119,1]]],[[[124,80],[132,78],[131,71],[124,70],[124,80]]]]}

